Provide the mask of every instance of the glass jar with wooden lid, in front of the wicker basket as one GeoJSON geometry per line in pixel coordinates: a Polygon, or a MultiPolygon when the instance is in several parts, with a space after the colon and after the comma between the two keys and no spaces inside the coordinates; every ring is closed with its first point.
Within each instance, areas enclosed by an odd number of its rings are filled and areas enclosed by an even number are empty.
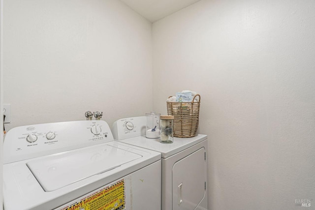
{"type": "Polygon", "coordinates": [[[173,143],[173,123],[174,116],[161,115],[160,116],[160,143],[171,144],[173,143]]]}

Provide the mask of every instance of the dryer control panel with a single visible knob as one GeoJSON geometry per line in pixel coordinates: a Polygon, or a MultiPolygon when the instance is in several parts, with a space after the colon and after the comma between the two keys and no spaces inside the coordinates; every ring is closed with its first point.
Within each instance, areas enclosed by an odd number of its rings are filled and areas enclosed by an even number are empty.
{"type": "Polygon", "coordinates": [[[115,140],[123,140],[146,135],[146,117],[124,118],[114,122],[113,136],[115,140]]]}

